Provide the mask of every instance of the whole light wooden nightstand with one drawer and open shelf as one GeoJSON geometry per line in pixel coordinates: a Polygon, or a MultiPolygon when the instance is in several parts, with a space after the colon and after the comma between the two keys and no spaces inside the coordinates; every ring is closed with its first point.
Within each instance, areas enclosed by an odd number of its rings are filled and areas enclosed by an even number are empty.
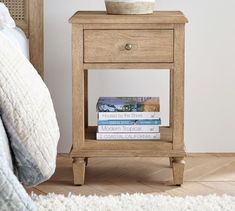
{"type": "MultiPolygon", "coordinates": [[[[174,184],[184,172],[184,30],[179,11],[152,15],[77,12],[72,23],[74,184],[84,184],[89,157],[169,157],[174,184]],[[169,69],[170,126],[156,141],[97,141],[88,125],[88,69],[169,69]]],[[[157,70],[156,70],[157,71],[157,70]]]]}

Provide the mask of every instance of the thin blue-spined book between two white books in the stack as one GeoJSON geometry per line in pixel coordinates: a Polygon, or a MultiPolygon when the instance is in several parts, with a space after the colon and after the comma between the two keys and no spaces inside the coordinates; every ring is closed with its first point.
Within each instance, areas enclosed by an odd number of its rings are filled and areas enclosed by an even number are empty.
{"type": "Polygon", "coordinates": [[[161,119],[98,120],[98,125],[161,125],[161,119]]]}

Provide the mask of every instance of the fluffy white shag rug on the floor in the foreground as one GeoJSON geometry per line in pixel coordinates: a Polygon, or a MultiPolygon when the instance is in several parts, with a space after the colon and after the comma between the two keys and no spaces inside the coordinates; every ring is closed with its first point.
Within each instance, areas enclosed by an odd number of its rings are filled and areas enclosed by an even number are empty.
{"type": "Polygon", "coordinates": [[[151,194],[120,196],[32,195],[39,211],[235,211],[234,196],[171,197],[151,194]]]}

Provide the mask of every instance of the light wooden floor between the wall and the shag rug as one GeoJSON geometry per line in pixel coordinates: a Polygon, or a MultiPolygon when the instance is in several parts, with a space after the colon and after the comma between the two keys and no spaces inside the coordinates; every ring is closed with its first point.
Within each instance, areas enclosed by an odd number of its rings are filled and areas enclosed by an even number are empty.
{"type": "Polygon", "coordinates": [[[167,158],[96,158],[89,159],[85,185],[74,186],[71,160],[66,155],[60,155],[54,176],[27,191],[65,195],[70,192],[81,195],[127,192],[172,196],[235,195],[235,155],[189,156],[184,176],[184,185],[172,185],[172,171],[167,158]]]}

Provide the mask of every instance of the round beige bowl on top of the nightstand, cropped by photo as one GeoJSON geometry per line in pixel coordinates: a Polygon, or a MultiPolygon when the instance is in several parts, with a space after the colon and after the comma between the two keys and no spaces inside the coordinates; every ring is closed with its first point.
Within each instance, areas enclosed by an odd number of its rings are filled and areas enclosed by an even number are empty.
{"type": "Polygon", "coordinates": [[[155,0],[105,0],[105,6],[108,14],[151,14],[155,0]]]}

